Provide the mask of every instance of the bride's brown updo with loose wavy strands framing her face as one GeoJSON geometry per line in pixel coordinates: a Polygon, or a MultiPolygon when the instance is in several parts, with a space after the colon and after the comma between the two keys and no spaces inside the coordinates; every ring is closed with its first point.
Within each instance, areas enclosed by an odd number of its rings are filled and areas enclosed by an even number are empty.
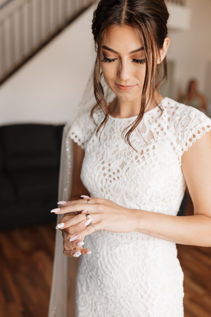
{"type": "MultiPolygon", "coordinates": [[[[167,79],[166,58],[164,58],[162,63],[157,65],[155,60],[155,49],[159,52],[159,49],[163,47],[164,39],[168,34],[166,25],[168,18],[169,12],[164,0],[100,0],[98,2],[92,19],[92,33],[94,35],[95,50],[97,53],[93,79],[94,95],[97,104],[91,109],[90,117],[93,118],[93,111],[99,105],[105,113],[105,118],[97,128],[96,136],[101,126],[105,126],[105,123],[109,118],[109,107],[104,98],[103,87],[100,82],[102,76],[102,72],[100,74],[100,54],[106,29],[112,25],[129,25],[138,32],[144,46],[146,55],[146,74],[141,95],[140,112],[134,121],[134,125],[125,135],[125,141],[127,138],[128,144],[132,146],[129,136],[135,127],[138,126],[145,113],[146,105],[149,102],[149,100],[146,102],[147,90],[149,89],[149,94],[154,96],[154,92],[161,82],[164,81],[164,79],[167,79]],[[142,34],[140,29],[142,30],[142,34]],[[150,52],[152,52],[152,65],[150,61],[150,52]],[[163,75],[161,75],[161,64],[164,66],[163,75]],[[154,73],[155,67],[156,72],[154,73]]],[[[133,123],[127,126],[123,132],[132,124],[133,123]]]]}

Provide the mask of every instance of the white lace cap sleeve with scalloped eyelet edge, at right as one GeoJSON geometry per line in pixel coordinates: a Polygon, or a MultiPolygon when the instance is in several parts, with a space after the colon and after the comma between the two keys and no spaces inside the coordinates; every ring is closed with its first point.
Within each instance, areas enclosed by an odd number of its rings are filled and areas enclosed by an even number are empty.
{"type": "Polygon", "coordinates": [[[192,106],[185,105],[185,107],[177,122],[181,155],[196,139],[200,139],[211,130],[211,119],[205,113],[192,106]]]}

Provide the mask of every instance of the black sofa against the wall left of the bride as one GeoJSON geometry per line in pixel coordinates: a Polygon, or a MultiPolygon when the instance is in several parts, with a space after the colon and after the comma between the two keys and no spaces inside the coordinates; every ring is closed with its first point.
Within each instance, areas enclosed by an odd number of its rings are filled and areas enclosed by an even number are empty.
{"type": "Polygon", "coordinates": [[[0,230],[56,220],[64,125],[0,126],[0,230]]]}

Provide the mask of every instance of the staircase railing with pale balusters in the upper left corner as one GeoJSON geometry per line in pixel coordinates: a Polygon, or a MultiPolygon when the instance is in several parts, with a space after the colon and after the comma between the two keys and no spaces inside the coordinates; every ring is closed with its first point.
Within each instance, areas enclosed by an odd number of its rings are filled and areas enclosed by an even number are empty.
{"type": "Polygon", "coordinates": [[[0,84],[95,0],[0,0],[0,84]]]}

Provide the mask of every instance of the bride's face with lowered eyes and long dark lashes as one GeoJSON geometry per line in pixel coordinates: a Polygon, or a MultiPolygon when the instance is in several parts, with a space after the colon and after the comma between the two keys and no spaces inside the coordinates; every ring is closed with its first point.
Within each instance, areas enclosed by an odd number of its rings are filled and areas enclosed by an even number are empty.
{"type": "Polygon", "coordinates": [[[139,35],[130,26],[111,26],[106,31],[102,42],[101,69],[107,85],[122,101],[140,98],[146,71],[146,55],[143,49],[129,53],[142,47],[139,35]],[[122,90],[116,84],[134,87],[122,90]]]}

